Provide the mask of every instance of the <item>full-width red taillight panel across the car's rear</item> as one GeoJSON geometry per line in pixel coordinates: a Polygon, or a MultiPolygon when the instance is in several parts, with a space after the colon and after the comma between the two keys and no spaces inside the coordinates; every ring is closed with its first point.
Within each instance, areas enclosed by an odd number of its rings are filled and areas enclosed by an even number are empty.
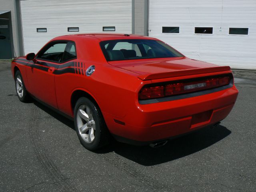
{"type": "Polygon", "coordinates": [[[160,98],[188,92],[216,88],[230,83],[230,77],[214,77],[191,82],[167,83],[158,86],[145,86],[139,92],[139,100],[160,98]]]}

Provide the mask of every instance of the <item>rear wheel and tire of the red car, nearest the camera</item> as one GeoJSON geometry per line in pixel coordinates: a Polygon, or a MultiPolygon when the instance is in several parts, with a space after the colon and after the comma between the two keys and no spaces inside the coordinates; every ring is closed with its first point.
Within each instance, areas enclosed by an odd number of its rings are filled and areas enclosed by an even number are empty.
{"type": "Polygon", "coordinates": [[[100,109],[91,100],[81,97],[74,108],[74,124],[81,144],[97,150],[109,143],[110,134],[100,109]]]}

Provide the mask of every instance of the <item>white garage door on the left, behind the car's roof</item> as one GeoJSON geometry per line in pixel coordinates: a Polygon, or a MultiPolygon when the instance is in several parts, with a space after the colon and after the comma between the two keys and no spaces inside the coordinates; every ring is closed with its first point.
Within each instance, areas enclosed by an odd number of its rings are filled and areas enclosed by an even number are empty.
{"type": "Polygon", "coordinates": [[[114,26],[115,33],[132,33],[132,0],[26,0],[20,4],[25,54],[38,52],[56,36],[102,32],[104,26],[114,26]],[[68,32],[68,27],[79,27],[79,32],[68,32]]]}

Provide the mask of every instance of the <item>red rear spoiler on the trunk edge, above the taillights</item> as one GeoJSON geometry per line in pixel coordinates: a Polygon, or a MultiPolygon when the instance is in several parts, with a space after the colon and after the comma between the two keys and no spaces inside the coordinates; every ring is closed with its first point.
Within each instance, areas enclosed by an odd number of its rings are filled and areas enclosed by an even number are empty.
{"type": "Polygon", "coordinates": [[[170,71],[170,72],[156,73],[156,74],[146,74],[146,75],[140,75],[138,76],[138,78],[145,81],[145,80],[153,80],[153,79],[178,77],[178,76],[221,72],[221,71],[228,71],[228,70],[230,70],[229,66],[217,66],[217,67],[208,67],[208,68],[177,70],[177,71],[170,71]]]}

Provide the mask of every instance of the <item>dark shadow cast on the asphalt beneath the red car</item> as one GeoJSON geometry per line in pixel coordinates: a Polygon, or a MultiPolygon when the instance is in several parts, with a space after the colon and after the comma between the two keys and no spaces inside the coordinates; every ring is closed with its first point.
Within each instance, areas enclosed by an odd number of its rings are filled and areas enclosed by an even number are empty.
{"type": "MultiPolygon", "coordinates": [[[[75,130],[73,121],[37,101],[35,101],[34,104],[52,117],[64,123],[66,126],[75,130]]],[[[115,152],[138,164],[153,166],[196,153],[219,142],[230,133],[231,131],[226,127],[218,125],[215,128],[204,128],[197,132],[169,140],[166,145],[158,148],[151,148],[150,146],[133,146],[112,140],[110,145],[97,150],[95,153],[106,154],[115,152]]]]}

